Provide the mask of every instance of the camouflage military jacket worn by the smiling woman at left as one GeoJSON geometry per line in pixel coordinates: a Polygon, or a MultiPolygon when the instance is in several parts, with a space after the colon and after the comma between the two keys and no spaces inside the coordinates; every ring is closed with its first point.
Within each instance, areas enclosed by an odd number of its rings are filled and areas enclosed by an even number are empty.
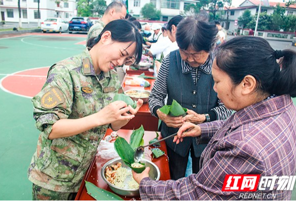
{"type": "Polygon", "coordinates": [[[33,99],[41,131],[28,170],[34,184],[57,192],[77,192],[108,125],[79,135],[49,140],[59,119],[79,119],[99,112],[120,89],[115,71],[95,74],[89,51],[53,65],[41,92],[33,99]]]}

